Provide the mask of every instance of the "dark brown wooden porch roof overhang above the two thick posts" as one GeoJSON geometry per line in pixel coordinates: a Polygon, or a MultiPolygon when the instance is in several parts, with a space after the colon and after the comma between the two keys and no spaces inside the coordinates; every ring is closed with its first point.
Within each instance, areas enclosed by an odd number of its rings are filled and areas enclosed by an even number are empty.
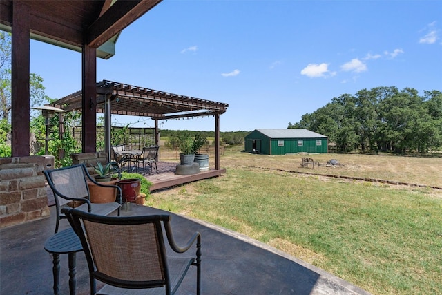
{"type": "MultiPolygon", "coordinates": [[[[23,0],[30,7],[30,37],[97,57],[115,55],[119,33],[162,0],[23,0]]],[[[0,29],[11,32],[14,1],[0,1],[0,29]]]]}

